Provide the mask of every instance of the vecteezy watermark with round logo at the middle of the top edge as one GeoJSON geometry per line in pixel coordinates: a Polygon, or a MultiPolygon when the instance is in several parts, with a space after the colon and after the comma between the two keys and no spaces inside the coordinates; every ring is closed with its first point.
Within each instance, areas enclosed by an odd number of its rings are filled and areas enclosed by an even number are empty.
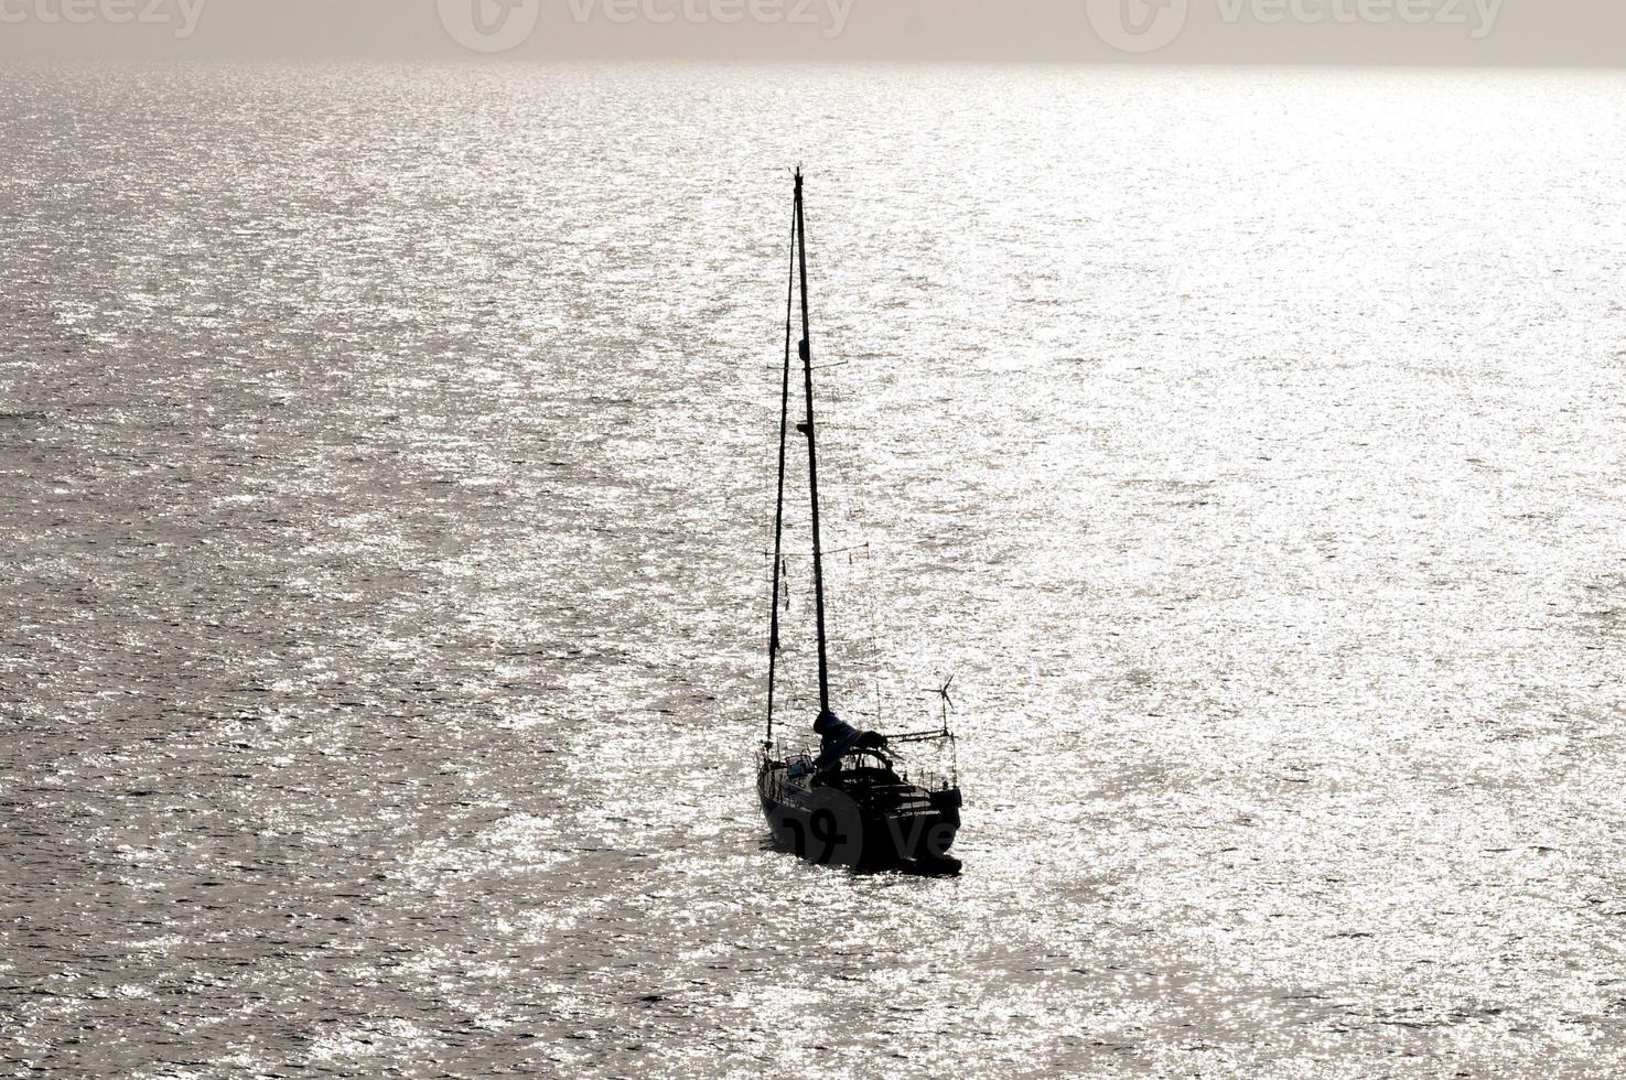
{"type": "MultiPolygon", "coordinates": [[[[0,0],[3,2],[3,0],[0,0]]],[[[507,52],[537,33],[541,0],[437,0],[441,24],[452,39],[476,52],[507,52]]],[[[1179,0],[1184,3],[1185,0],[1179,0]]],[[[847,29],[854,0],[567,0],[571,18],[667,26],[815,26],[826,39],[847,29]]]]}

